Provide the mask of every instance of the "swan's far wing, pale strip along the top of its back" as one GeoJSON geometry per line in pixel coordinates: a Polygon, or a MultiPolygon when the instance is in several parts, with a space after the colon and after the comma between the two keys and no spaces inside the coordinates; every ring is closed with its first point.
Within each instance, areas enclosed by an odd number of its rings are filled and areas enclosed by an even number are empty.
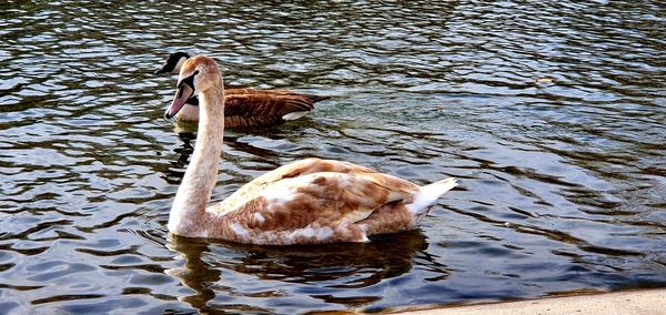
{"type": "Polygon", "coordinates": [[[228,199],[222,201],[219,206],[215,207],[215,212],[229,212],[235,210],[246,201],[260,196],[266,186],[270,186],[278,181],[319,172],[343,174],[377,173],[377,171],[373,169],[350,162],[322,160],[316,158],[299,160],[268,172],[243,185],[228,199]]]}

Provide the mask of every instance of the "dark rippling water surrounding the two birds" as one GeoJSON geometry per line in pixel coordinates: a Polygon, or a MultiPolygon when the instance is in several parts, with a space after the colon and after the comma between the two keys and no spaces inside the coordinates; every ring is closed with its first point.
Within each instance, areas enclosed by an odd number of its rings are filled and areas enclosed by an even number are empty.
{"type": "MultiPolygon", "coordinates": [[[[303,313],[666,286],[663,1],[0,4],[0,313],[303,313]],[[170,240],[169,52],[331,94],[229,131],[213,199],[306,156],[426,183],[367,244],[170,240]]],[[[179,135],[178,132],[185,132],[179,135]]]]}

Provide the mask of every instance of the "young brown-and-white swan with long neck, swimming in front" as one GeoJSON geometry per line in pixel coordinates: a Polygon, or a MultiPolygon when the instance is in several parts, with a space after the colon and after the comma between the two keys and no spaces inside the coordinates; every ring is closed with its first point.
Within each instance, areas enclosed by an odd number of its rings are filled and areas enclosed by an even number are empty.
{"type": "Polygon", "coordinates": [[[414,228],[457,184],[448,177],[418,186],[344,161],[305,159],[208,206],[225,121],[224,84],[213,59],[196,55],[183,63],[164,116],[178,114],[194,92],[200,96],[198,138],[169,214],[173,234],[264,245],[366,242],[370,235],[414,228]]]}

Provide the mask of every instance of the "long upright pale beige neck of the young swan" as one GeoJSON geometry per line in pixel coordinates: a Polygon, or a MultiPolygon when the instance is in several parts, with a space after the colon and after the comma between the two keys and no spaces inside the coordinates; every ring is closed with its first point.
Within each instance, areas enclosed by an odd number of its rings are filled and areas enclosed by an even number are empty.
{"type": "Polygon", "coordinates": [[[205,207],[218,179],[224,130],[224,84],[202,91],[199,130],[194,153],[185,171],[169,215],[169,231],[184,236],[198,236],[205,228],[205,207]]]}

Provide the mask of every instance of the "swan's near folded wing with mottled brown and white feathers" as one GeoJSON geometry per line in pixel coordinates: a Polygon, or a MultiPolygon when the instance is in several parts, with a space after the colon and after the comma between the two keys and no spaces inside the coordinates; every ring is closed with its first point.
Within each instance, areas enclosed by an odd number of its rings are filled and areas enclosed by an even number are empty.
{"type": "Polygon", "coordinates": [[[387,203],[408,203],[417,192],[417,185],[382,173],[317,172],[272,182],[226,216],[241,242],[364,241],[365,231],[354,223],[387,203]]]}

